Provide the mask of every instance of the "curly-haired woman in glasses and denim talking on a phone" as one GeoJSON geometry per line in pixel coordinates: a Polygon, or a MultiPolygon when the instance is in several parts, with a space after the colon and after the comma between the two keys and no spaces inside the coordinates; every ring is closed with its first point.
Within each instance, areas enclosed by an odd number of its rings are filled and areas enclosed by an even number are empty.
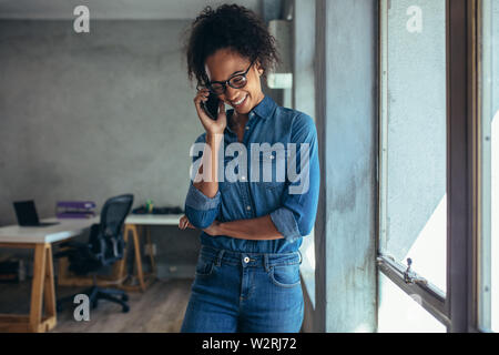
{"type": "Polygon", "coordinates": [[[194,104],[206,132],[196,140],[205,145],[193,159],[200,165],[179,224],[203,231],[182,332],[299,332],[298,247],[314,225],[319,187],[314,121],[262,92],[261,78],[278,55],[265,23],[244,7],[205,8],[192,23],[186,57],[190,79],[203,87],[194,104]],[[210,92],[221,100],[216,120],[201,106],[210,92]],[[233,109],[225,112],[224,103],[233,109]],[[267,179],[256,179],[261,153],[267,179]],[[246,158],[237,169],[234,155],[246,158]]]}

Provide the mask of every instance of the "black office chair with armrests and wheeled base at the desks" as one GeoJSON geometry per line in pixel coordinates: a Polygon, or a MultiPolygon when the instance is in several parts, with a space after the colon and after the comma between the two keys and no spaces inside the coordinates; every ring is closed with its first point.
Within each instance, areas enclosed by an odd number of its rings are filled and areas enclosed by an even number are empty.
{"type": "MultiPolygon", "coordinates": [[[[109,199],[102,207],[100,223],[93,224],[90,229],[89,242],[63,243],[61,247],[64,247],[64,250],[54,254],[54,257],[67,256],[69,270],[77,275],[93,274],[93,286],[81,292],[89,296],[92,308],[98,306],[99,300],[108,300],[120,304],[123,312],[130,311],[126,304],[129,300],[126,293],[122,290],[99,287],[96,285],[96,272],[123,258],[124,240],[122,229],[132,204],[132,194],[109,199]]],[[[62,310],[64,303],[74,300],[75,295],[58,300],[58,311],[62,310]]]]}

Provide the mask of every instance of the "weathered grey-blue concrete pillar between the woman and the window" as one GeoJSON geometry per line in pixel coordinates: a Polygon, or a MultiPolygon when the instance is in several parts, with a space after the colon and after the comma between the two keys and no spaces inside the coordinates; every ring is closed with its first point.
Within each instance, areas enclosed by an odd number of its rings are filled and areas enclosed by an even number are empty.
{"type": "Polygon", "coordinates": [[[377,1],[320,0],[315,332],[376,329],[377,1]]]}

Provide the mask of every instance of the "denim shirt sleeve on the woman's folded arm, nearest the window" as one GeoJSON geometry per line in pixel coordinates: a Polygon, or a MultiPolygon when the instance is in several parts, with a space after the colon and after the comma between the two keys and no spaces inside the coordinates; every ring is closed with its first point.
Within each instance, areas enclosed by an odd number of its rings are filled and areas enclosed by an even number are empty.
{"type": "Polygon", "coordinates": [[[296,146],[296,158],[292,155],[291,159],[296,159],[299,179],[286,182],[282,204],[271,213],[271,219],[277,231],[288,242],[296,242],[299,237],[310,234],[317,214],[320,171],[317,130],[310,116],[301,114],[295,118],[291,142],[296,146]],[[305,159],[302,166],[301,146],[303,143],[306,143],[305,146],[308,145],[308,161],[305,159]]]}

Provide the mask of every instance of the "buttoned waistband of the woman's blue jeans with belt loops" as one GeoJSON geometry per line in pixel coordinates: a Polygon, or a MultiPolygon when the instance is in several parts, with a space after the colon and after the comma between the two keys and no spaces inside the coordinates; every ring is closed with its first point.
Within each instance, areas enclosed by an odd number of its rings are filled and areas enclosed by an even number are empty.
{"type": "Polygon", "coordinates": [[[268,270],[272,266],[296,265],[302,264],[302,253],[299,251],[293,253],[246,253],[234,252],[227,250],[214,248],[203,245],[200,252],[201,257],[213,261],[216,265],[243,265],[264,266],[268,270]]]}

